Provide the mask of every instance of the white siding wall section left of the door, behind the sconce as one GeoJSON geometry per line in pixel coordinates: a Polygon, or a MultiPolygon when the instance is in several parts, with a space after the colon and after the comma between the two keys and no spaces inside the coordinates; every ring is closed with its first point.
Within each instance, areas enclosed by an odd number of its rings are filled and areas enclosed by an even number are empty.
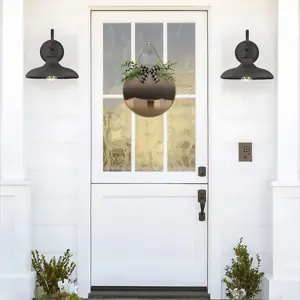
{"type": "MultiPolygon", "coordinates": [[[[76,17],[71,1],[63,2],[65,6],[59,1],[53,5],[47,1],[26,1],[26,71],[43,64],[39,49],[50,39],[51,28],[65,46],[63,65],[78,68],[78,13],[76,17]]],[[[25,81],[25,143],[27,175],[32,183],[33,248],[47,257],[61,255],[70,248],[76,260],[79,101],[76,81],[57,81],[53,85],[44,80],[25,81]]]]}

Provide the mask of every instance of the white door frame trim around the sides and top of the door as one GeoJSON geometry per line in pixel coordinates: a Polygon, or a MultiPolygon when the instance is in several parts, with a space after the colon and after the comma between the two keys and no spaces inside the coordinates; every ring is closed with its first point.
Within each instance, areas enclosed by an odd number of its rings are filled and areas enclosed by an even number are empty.
{"type": "MultiPolygon", "coordinates": [[[[80,28],[79,36],[79,69],[81,70],[81,81],[79,83],[81,97],[80,101],[80,120],[78,122],[78,134],[82,137],[81,143],[78,147],[78,253],[77,253],[77,279],[79,283],[79,293],[82,297],[87,297],[90,292],[90,282],[91,282],[91,72],[90,72],[90,51],[91,51],[91,38],[90,38],[90,22],[91,22],[91,12],[93,10],[99,11],[114,11],[114,10],[166,10],[166,11],[185,11],[185,10],[206,10],[208,11],[208,36],[211,34],[211,3],[210,0],[195,1],[195,3],[200,4],[200,6],[89,6],[85,15],[85,26],[80,28]],[[199,3],[200,2],[200,3],[199,3]]],[[[208,54],[211,49],[211,40],[208,40],[208,54]]],[[[210,65],[211,60],[208,55],[208,136],[211,135],[211,101],[210,101],[210,65]]],[[[210,139],[208,141],[208,166],[210,163],[210,139]]],[[[212,184],[211,172],[208,172],[208,181],[210,185],[212,184]]],[[[212,203],[212,193],[210,188],[209,196],[209,210],[207,211],[208,217],[208,291],[209,293],[218,294],[221,297],[221,254],[218,251],[218,240],[219,234],[213,228],[212,225],[212,215],[213,210],[212,203]],[[211,245],[214,245],[214,248],[211,245]]]]}

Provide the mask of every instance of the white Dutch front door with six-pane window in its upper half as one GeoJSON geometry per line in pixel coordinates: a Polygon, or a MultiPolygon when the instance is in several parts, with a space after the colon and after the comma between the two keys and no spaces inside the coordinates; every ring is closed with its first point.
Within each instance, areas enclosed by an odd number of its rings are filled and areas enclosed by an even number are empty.
{"type": "Polygon", "coordinates": [[[91,285],[205,287],[207,12],[93,11],[91,46],[91,285]],[[147,41],[177,62],[175,103],[155,118],[122,96],[121,65],[147,41]]]}

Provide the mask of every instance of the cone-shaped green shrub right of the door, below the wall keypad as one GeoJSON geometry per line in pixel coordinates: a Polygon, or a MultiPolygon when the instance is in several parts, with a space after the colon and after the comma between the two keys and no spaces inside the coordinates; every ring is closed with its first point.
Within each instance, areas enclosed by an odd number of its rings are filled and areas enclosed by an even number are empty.
{"type": "Polygon", "coordinates": [[[226,284],[226,296],[233,299],[231,291],[237,288],[244,289],[246,298],[253,299],[260,291],[261,278],[264,276],[263,272],[259,271],[261,267],[261,259],[257,254],[257,266],[253,267],[253,257],[250,257],[247,246],[242,244],[243,238],[240,239],[238,245],[233,248],[236,259],[231,260],[231,266],[225,267],[225,275],[227,278],[223,279],[226,284]]]}

